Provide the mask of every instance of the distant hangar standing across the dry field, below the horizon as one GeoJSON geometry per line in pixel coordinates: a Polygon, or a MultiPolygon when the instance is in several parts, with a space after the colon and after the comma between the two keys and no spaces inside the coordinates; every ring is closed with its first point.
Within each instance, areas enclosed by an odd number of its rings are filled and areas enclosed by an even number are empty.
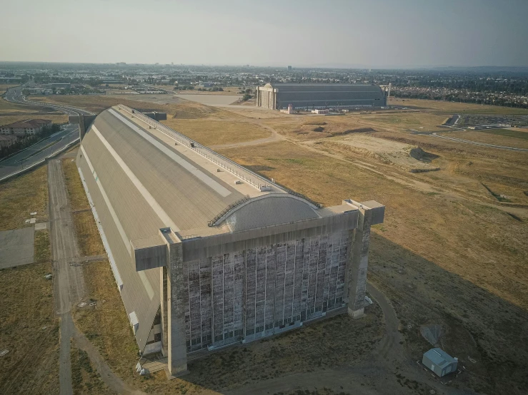
{"type": "Polygon", "coordinates": [[[256,106],[283,110],[373,108],[387,106],[387,95],[377,85],[359,83],[267,83],[256,88],[256,106]]]}

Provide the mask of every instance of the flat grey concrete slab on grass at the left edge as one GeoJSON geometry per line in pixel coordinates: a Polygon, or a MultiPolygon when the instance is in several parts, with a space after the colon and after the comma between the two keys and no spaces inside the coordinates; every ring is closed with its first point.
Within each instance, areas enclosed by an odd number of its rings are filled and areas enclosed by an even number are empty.
{"type": "Polygon", "coordinates": [[[0,232],[0,269],[34,262],[34,227],[0,232]]]}

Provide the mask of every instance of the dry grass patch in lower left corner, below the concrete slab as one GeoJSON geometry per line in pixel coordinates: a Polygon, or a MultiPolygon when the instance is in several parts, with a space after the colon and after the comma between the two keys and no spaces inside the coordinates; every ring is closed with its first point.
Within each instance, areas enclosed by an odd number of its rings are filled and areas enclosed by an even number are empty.
{"type": "Polygon", "coordinates": [[[59,321],[51,262],[0,271],[1,394],[59,394],[59,321]]]}

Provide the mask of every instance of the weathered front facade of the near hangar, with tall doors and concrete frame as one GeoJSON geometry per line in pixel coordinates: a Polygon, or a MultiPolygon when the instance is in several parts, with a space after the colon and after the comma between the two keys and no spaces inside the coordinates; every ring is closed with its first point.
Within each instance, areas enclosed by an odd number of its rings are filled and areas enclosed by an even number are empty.
{"type": "Polygon", "coordinates": [[[279,334],[335,309],[347,307],[351,317],[361,317],[370,227],[383,221],[384,206],[354,200],[343,206],[338,218],[300,227],[187,240],[171,228],[160,229],[166,256],[152,240],[150,255],[149,247],[141,249],[149,265],[136,268],[151,268],[156,259],[161,267],[169,376],[186,373],[191,352],[279,334]]]}

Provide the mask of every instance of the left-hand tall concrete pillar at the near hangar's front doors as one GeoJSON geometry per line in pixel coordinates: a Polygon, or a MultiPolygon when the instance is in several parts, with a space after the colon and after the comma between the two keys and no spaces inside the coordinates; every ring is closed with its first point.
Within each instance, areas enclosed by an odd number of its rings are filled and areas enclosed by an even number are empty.
{"type": "Polygon", "coordinates": [[[181,240],[170,232],[165,235],[169,248],[166,267],[167,292],[167,352],[168,374],[171,377],[189,373],[187,370],[187,347],[185,337],[185,295],[184,260],[181,240]]]}

